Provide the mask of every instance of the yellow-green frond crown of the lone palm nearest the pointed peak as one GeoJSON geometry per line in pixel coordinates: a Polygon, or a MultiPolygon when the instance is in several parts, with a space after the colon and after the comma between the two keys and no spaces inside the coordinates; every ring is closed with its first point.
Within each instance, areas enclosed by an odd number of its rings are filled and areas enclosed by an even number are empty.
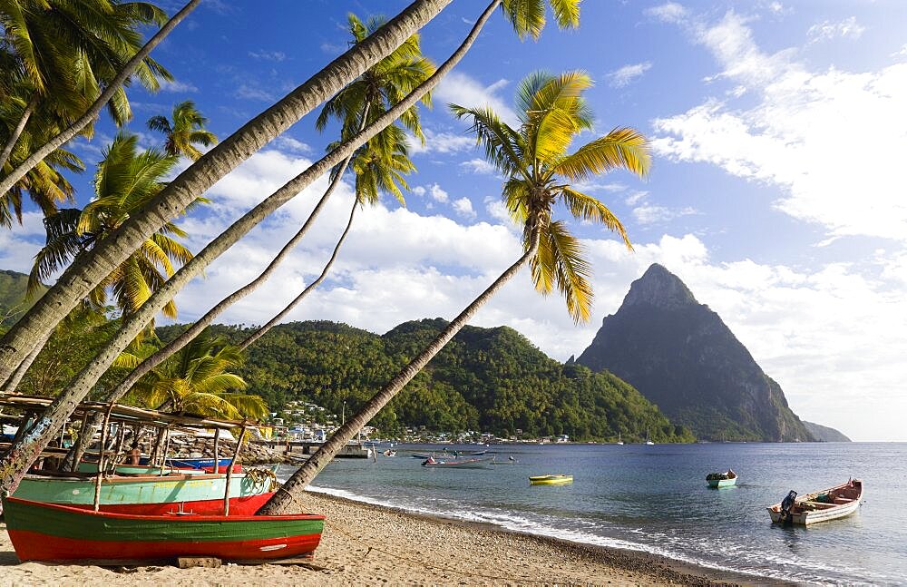
{"type": "Polygon", "coordinates": [[[471,130],[483,144],[486,159],[507,178],[503,197],[513,220],[523,227],[524,249],[538,248],[531,259],[536,289],[548,294],[557,287],[577,322],[590,317],[591,268],[580,241],[563,220],[552,219],[552,208],[561,203],[575,218],[604,224],[631,248],[617,217],[603,203],[572,187],[571,181],[614,169],[645,176],[650,163],[645,137],[629,128],[615,129],[568,152],[580,132],[592,129],[592,114],[582,98],[591,84],[582,72],[531,74],[517,93],[519,129],[502,122],[491,109],[450,104],[454,115],[472,122],[471,130]]]}

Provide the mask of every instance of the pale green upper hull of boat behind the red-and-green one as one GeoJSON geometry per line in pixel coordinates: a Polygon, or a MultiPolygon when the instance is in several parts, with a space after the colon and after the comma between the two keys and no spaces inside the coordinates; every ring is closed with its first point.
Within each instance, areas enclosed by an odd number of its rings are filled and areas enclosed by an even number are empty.
{"type": "MultiPolygon", "coordinates": [[[[218,501],[223,504],[227,477],[223,474],[169,474],[137,477],[111,477],[101,484],[101,504],[180,504],[218,501]]],[[[44,504],[93,505],[94,480],[71,477],[26,475],[13,493],[14,497],[44,504]]],[[[230,481],[230,499],[266,494],[268,479],[254,480],[247,474],[235,474],[230,481]]],[[[221,505],[222,507],[222,505],[221,505]]]]}

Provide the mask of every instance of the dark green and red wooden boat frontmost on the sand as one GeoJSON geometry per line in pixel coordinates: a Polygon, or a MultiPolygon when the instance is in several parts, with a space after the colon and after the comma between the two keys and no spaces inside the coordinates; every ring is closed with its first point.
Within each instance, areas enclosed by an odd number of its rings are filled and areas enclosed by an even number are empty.
{"type": "Polygon", "coordinates": [[[4,514],[20,561],[91,564],[182,556],[235,563],[310,558],[325,520],[314,514],[111,514],[15,497],[4,499],[4,514]]]}

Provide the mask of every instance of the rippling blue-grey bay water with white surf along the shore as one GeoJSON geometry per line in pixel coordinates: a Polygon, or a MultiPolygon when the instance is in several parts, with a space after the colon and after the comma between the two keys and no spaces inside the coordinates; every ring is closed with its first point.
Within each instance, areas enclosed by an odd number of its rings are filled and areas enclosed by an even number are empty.
{"type": "MultiPolygon", "coordinates": [[[[816,585],[907,585],[907,444],[490,445],[507,465],[433,469],[410,451],[477,445],[399,445],[375,460],[335,460],[311,489],[411,512],[610,546],[758,578],[816,585]],[[513,460],[510,460],[512,457],[513,460]],[[733,469],[735,487],[706,475],[733,469]],[[531,485],[572,474],[570,485],[531,485]],[[846,518],[772,524],[766,506],[863,479],[846,518]]],[[[284,479],[293,471],[283,467],[284,479]]]]}

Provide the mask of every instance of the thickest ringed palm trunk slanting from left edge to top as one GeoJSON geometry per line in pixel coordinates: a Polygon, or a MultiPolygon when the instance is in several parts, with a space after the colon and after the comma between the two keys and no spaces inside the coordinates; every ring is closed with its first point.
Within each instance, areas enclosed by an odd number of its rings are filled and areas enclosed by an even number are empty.
{"type": "MultiPolygon", "coordinates": [[[[84,254],[82,259],[78,259],[69,269],[66,269],[54,287],[47,290],[28,313],[6,333],[4,338],[0,339],[0,378],[9,377],[15,367],[18,367],[24,357],[32,351],[35,341],[50,332],[78,303],[78,300],[88,295],[102,279],[110,275],[113,269],[118,267],[133,251],[139,249],[141,242],[148,235],[160,230],[166,222],[176,218],[200,193],[207,191],[221,177],[235,169],[240,162],[248,159],[252,153],[257,152],[278,134],[286,131],[290,125],[311,112],[318,104],[339,92],[346,83],[356,79],[369,67],[395,51],[400,44],[403,44],[406,39],[440,13],[444,6],[450,4],[451,1],[415,0],[412,5],[388,21],[375,34],[351,47],[345,54],[340,55],[327,67],[309,78],[307,82],[298,86],[278,103],[258,114],[243,125],[239,131],[220,142],[189,169],[180,173],[141,210],[123,222],[110,237],[102,240],[94,249],[84,254]]],[[[500,2],[500,0],[496,0],[496,2],[500,2]]],[[[426,89],[425,92],[427,91],[426,89]]],[[[399,116],[399,113],[396,116],[399,116]]],[[[386,122],[384,126],[389,122],[386,122]]],[[[380,128],[384,128],[384,126],[380,128]]],[[[359,145],[361,144],[360,142],[359,145]]],[[[329,163],[327,168],[336,165],[351,153],[352,149],[348,148],[337,150],[331,159],[333,162],[329,163]]],[[[297,187],[297,191],[301,190],[322,173],[324,170],[314,177],[309,174],[306,178],[307,181],[297,182],[293,185],[297,187]],[[305,185],[301,185],[301,183],[305,183],[305,185]],[[301,187],[299,187],[300,185],[301,187]]],[[[283,200],[280,203],[287,201],[290,197],[287,193],[282,193],[281,196],[283,200]]],[[[258,207],[256,210],[258,210],[257,214],[263,211],[258,207]]],[[[269,211],[271,210],[268,210],[267,213],[269,211]]],[[[249,229],[258,221],[260,219],[249,225],[249,229]]],[[[239,231],[232,234],[238,238],[244,232],[239,231]]],[[[235,239],[231,240],[229,244],[231,245],[235,241],[235,239]]],[[[210,262],[210,259],[207,262],[210,262]]],[[[183,283],[180,283],[180,287],[182,285],[183,283]]],[[[54,426],[62,425],[62,422],[54,422],[54,426]]]]}

